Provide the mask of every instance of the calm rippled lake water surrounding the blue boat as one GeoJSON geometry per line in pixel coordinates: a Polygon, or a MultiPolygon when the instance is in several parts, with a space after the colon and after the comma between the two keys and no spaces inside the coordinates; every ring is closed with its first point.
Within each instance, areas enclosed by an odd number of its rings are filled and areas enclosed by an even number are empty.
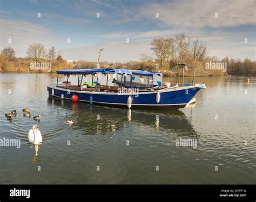
{"type": "Polygon", "coordinates": [[[0,74],[0,139],[21,140],[0,147],[0,184],[255,184],[256,78],[246,79],[197,78],[206,89],[191,107],[129,111],[49,98],[48,74],[0,74]],[[26,107],[42,120],[24,117],[26,107]],[[10,122],[4,114],[14,109],[10,122]],[[38,163],[33,124],[43,136],[38,163]],[[197,147],[177,147],[179,138],[197,147]]]}

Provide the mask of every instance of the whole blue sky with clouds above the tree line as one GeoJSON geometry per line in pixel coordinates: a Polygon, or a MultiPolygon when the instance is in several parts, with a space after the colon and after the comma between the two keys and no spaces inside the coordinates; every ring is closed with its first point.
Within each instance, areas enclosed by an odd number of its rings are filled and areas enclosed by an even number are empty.
{"type": "Polygon", "coordinates": [[[0,48],[10,45],[17,56],[25,56],[29,44],[42,43],[65,59],[96,61],[103,47],[102,60],[127,62],[152,54],[152,38],[184,33],[202,40],[210,56],[255,60],[254,0],[0,2],[0,48]]]}

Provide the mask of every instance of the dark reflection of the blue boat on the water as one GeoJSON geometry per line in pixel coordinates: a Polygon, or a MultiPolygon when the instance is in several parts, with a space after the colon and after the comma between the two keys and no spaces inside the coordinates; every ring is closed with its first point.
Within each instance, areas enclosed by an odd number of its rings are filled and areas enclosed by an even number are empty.
{"type": "MultiPolygon", "coordinates": [[[[157,130],[169,130],[174,133],[188,134],[196,136],[191,121],[180,110],[141,110],[141,109],[123,109],[105,106],[92,106],[86,103],[76,103],[67,100],[59,100],[50,97],[49,105],[62,106],[68,110],[67,114],[72,114],[75,121],[72,128],[88,131],[96,131],[98,134],[114,133],[127,127],[127,124],[133,124],[136,127],[148,126],[157,130]],[[72,113],[70,113],[71,111],[72,113]]],[[[65,119],[70,116],[65,117],[65,119]]]]}

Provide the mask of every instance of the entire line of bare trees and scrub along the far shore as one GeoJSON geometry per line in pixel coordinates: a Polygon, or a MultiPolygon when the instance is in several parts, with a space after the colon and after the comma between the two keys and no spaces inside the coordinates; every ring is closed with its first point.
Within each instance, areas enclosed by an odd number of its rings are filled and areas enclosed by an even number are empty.
{"type": "MultiPolygon", "coordinates": [[[[219,60],[217,57],[207,55],[207,47],[202,41],[191,40],[185,34],[179,34],[174,38],[154,38],[150,42],[153,55],[142,54],[140,61],[100,62],[102,68],[127,68],[149,71],[167,72],[165,75],[180,75],[177,64],[186,64],[191,71],[185,71],[185,75],[191,76],[193,69],[197,69],[197,75],[256,75],[256,61],[248,58],[219,60]],[[227,72],[222,70],[206,69],[206,62],[226,62],[227,72]]],[[[56,53],[52,46],[48,52],[43,44],[31,44],[26,51],[25,58],[16,58],[12,47],[5,47],[0,54],[0,72],[30,72],[30,62],[51,62],[52,72],[64,68],[97,68],[97,62],[80,60],[74,64],[68,64],[63,60],[59,51],[56,53]]]]}

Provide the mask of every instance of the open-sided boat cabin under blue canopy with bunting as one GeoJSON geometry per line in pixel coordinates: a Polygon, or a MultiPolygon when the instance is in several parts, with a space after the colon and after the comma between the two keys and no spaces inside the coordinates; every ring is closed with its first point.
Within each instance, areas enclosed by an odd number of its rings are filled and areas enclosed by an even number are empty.
{"type": "Polygon", "coordinates": [[[125,89],[156,90],[164,88],[161,86],[163,75],[150,71],[133,71],[130,69],[63,69],[57,71],[56,86],[72,90],[97,91],[97,92],[119,92],[125,89]],[[59,82],[59,74],[67,77],[66,81],[59,82]],[[91,75],[91,81],[86,76],[91,75]],[[71,83],[70,76],[78,76],[78,82],[71,83]],[[99,82],[99,78],[105,78],[99,82]],[[86,81],[85,81],[86,80],[86,81]]]}

